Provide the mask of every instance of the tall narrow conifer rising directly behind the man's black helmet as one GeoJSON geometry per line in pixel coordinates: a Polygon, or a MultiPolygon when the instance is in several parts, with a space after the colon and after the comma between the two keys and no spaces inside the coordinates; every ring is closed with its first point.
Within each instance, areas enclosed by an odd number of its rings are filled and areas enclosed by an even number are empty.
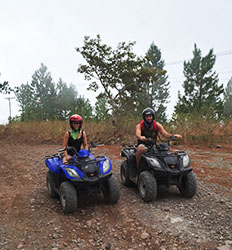
{"type": "Polygon", "coordinates": [[[164,70],[164,60],[161,58],[161,51],[154,44],[151,44],[146,53],[149,60],[145,63],[148,69],[156,69],[157,77],[155,81],[142,83],[142,92],[138,93],[139,113],[146,107],[151,107],[156,111],[156,120],[160,122],[167,121],[166,104],[169,98],[169,82],[167,82],[166,71],[164,70]]]}

